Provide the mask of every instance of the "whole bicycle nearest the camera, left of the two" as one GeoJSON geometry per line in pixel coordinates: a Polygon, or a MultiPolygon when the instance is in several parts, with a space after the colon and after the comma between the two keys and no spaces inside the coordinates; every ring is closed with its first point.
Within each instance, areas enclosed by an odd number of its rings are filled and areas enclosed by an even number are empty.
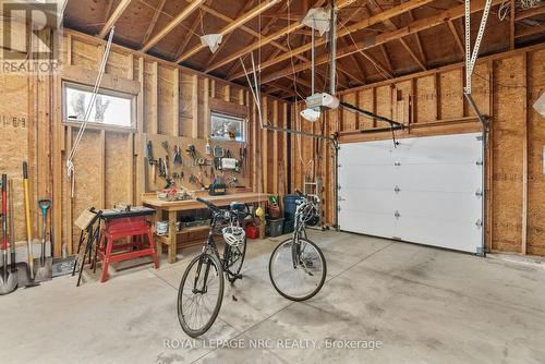
{"type": "Polygon", "coordinates": [[[242,222],[249,216],[244,204],[232,203],[220,209],[210,202],[197,198],[211,211],[210,232],[202,253],[185,269],[178,290],[178,319],[192,338],[202,336],[216,320],[223,300],[223,276],[234,283],[242,279],[240,270],[246,253],[246,234],[242,222]],[[220,257],[215,235],[226,242],[220,257]]]}

